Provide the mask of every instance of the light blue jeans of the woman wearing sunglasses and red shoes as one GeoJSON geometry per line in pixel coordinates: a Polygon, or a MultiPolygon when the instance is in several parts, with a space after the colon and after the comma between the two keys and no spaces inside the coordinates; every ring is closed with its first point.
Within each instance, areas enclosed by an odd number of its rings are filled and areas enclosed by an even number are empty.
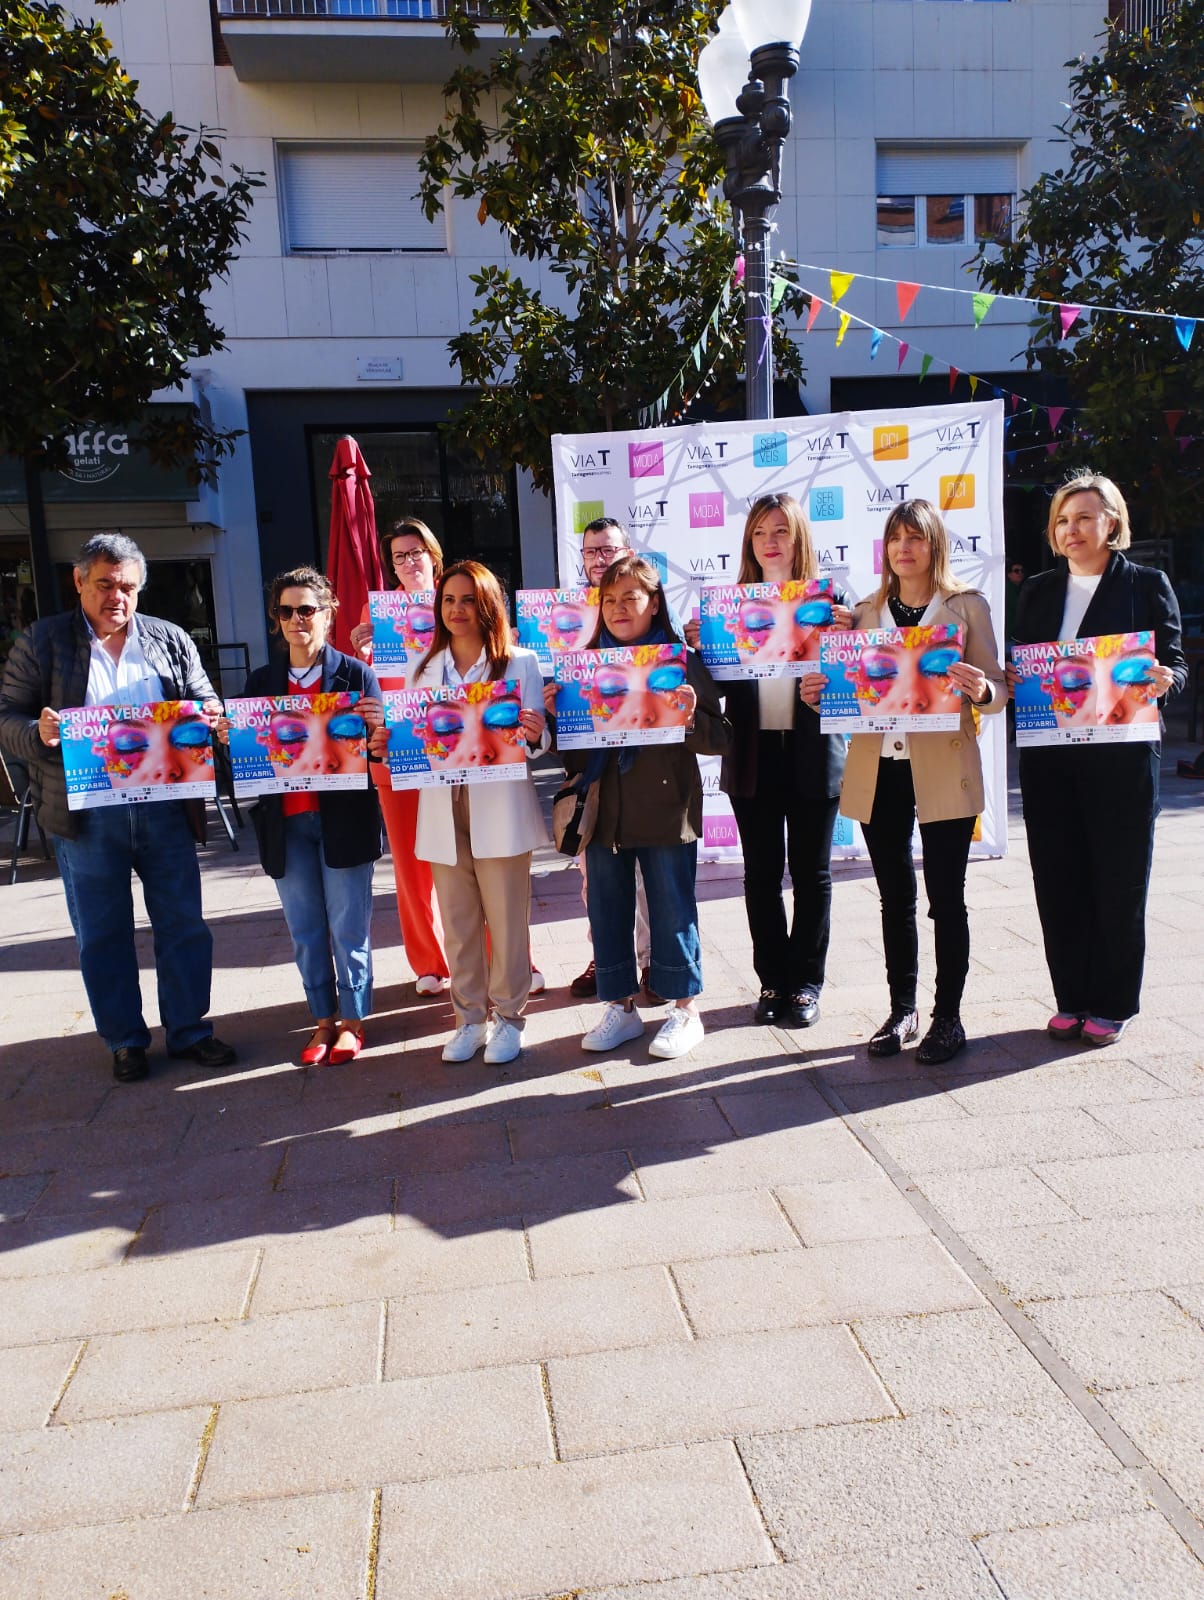
{"type": "Polygon", "coordinates": [[[322,818],[285,818],[285,875],[275,880],[293,957],[315,1018],[371,1011],[371,862],[328,867],[322,818]]]}

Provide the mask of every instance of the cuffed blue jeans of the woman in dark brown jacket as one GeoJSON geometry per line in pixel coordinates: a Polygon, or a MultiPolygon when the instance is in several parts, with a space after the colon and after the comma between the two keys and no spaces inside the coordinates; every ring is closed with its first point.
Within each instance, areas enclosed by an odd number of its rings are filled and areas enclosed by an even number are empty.
{"type": "Polygon", "coordinates": [[[703,992],[703,949],[693,894],[698,845],[586,846],[589,931],[599,1000],[626,1000],[639,989],[636,970],[636,862],[648,891],[652,968],[648,987],[666,1000],[703,992]]]}

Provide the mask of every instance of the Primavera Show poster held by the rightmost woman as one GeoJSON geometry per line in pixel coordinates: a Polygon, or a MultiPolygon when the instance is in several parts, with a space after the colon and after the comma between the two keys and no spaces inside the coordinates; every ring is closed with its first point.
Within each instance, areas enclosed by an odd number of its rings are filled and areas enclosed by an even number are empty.
{"type": "Polygon", "coordinates": [[[1013,645],[1017,744],[1158,739],[1156,664],[1150,629],[1013,645]]]}

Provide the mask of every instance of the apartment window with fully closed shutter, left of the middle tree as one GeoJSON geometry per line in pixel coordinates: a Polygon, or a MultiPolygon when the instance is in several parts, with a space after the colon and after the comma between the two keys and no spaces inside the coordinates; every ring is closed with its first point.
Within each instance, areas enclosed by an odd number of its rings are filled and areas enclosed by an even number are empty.
{"type": "Polygon", "coordinates": [[[279,144],[280,213],[291,254],[447,251],[442,213],[418,203],[418,149],[405,144],[279,144]]]}

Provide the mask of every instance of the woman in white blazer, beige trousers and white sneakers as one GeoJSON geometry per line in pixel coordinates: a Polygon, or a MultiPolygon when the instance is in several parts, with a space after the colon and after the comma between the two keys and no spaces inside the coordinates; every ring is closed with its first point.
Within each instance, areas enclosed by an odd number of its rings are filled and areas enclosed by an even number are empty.
{"type": "MultiPolygon", "coordinates": [[[[530,763],[549,742],[538,658],[511,645],[493,573],[479,562],[456,562],[439,579],[434,642],[410,686],[498,680],[519,685],[517,726],[530,763]]],[[[488,736],[456,754],[464,766],[487,763],[488,736]]],[[[421,790],[415,854],[431,862],[435,880],[456,1013],[443,1061],[471,1061],[484,1045],[485,1061],[501,1066],[522,1050],[532,987],[532,851],[546,842],[530,765],[522,781],[421,790]]]]}

